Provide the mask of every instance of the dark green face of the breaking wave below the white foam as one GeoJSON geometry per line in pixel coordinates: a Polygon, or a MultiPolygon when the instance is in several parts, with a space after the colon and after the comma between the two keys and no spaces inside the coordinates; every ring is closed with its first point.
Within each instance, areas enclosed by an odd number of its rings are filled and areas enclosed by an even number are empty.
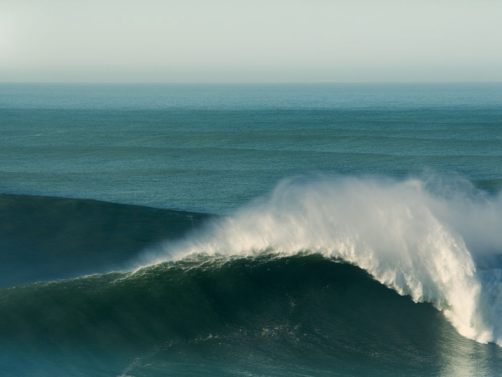
{"type": "Polygon", "coordinates": [[[314,255],[192,256],[0,290],[0,362],[26,375],[494,375],[460,336],[361,269],[314,255]],[[22,365],[22,366],[20,366],[22,365]]]}

